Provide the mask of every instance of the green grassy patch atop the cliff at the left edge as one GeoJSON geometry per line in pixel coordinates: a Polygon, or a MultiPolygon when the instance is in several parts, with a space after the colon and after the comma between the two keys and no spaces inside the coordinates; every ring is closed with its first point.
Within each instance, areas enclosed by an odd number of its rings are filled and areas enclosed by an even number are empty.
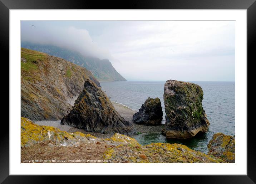
{"type": "Polygon", "coordinates": [[[24,79],[39,80],[39,78],[36,77],[36,74],[39,72],[38,63],[40,61],[43,61],[46,58],[46,56],[47,55],[42,52],[21,48],[20,69],[21,69],[21,75],[24,77],[24,79]],[[25,61],[23,58],[25,58],[25,61]]]}

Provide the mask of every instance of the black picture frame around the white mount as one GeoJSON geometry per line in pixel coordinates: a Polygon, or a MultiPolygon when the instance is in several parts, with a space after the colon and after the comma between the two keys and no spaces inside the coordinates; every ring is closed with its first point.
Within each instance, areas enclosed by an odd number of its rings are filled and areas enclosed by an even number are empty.
{"type": "MultiPolygon", "coordinates": [[[[256,0],[129,0],[129,1],[96,1],[96,0],[0,0],[0,45],[1,52],[5,53],[9,61],[9,10],[10,9],[246,9],[247,10],[247,68],[248,63],[256,61],[256,0]]],[[[9,66],[6,66],[9,67],[9,66]]],[[[247,71],[247,79],[251,78],[247,71]]],[[[250,84],[247,82],[247,84],[250,84]]],[[[250,86],[249,86],[250,87],[250,86]]],[[[7,87],[6,87],[7,89],[7,87]]],[[[9,89],[9,88],[8,88],[9,89]]],[[[9,92],[9,91],[8,91],[9,92]]],[[[9,96],[7,91],[5,96],[9,96]]],[[[247,88],[247,96],[250,93],[247,88]]],[[[10,96],[9,96],[10,98],[10,96]]],[[[250,100],[253,103],[253,100],[250,100]]],[[[6,108],[7,109],[7,108],[6,108]]],[[[8,108],[9,109],[9,108],[8,108]]],[[[247,108],[247,114],[251,114],[253,108],[247,108]]],[[[11,110],[11,109],[10,109],[11,110]]],[[[7,120],[6,120],[7,122],[7,120]]],[[[247,123],[247,175],[220,175],[220,176],[168,176],[161,180],[181,179],[189,183],[255,183],[256,182],[256,147],[254,143],[254,121],[237,122],[247,123]]],[[[3,183],[52,183],[53,176],[9,176],[9,125],[2,123],[0,142],[0,182],[3,183]]],[[[83,180],[83,176],[74,176],[75,180],[83,180]]],[[[89,176],[86,176],[87,180],[89,176]]],[[[111,176],[110,176],[111,177],[111,176]]],[[[113,178],[113,177],[112,177],[113,178]]],[[[151,177],[147,177],[152,180],[151,177]]],[[[95,179],[95,178],[90,178],[95,179]]],[[[68,182],[67,176],[59,176],[61,180],[68,182]]],[[[106,178],[97,177],[97,183],[106,178]]],[[[107,179],[111,182],[116,180],[107,179]]],[[[74,180],[73,180],[74,181],[74,180]]],[[[122,183],[131,183],[131,176],[122,177],[122,183]]]]}

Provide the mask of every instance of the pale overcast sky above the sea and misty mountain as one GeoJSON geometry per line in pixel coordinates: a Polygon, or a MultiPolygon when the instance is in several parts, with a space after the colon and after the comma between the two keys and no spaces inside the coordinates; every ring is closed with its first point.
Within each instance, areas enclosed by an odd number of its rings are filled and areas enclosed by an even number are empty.
{"type": "Polygon", "coordinates": [[[235,21],[21,21],[21,41],[107,58],[127,80],[235,81],[235,21]]]}

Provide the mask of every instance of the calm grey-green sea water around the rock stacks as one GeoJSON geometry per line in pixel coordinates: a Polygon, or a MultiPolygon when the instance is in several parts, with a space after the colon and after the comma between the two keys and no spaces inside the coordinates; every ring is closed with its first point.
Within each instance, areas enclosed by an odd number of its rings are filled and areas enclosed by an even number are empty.
{"type": "MultiPolygon", "coordinates": [[[[122,81],[122,82],[100,82],[102,89],[112,101],[121,103],[131,109],[138,111],[148,97],[160,98],[163,109],[163,120],[165,123],[165,112],[163,102],[165,81],[122,81]]],[[[207,144],[213,134],[222,132],[235,135],[235,82],[193,82],[203,89],[203,108],[206,111],[210,127],[207,133],[197,134],[189,139],[166,139],[161,132],[140,134],[135,136],[142,145],[152,142],[180,143],[189,148],[207,153],[207,144]]]]}

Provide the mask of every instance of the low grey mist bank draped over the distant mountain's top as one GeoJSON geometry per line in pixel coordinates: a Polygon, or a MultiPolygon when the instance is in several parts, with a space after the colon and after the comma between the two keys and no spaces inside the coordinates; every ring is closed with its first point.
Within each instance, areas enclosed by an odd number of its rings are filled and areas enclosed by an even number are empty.
{"type": "Polygon", "coordinates": [[[21,42],[34,44],[54,45],[80,52],[83,56],[92,56],[100,59],[112,56],[95,43],[85,29],[75,27],[45,26],[40,21],[35,23],[29,21],[21,22],[21,42]]]}

